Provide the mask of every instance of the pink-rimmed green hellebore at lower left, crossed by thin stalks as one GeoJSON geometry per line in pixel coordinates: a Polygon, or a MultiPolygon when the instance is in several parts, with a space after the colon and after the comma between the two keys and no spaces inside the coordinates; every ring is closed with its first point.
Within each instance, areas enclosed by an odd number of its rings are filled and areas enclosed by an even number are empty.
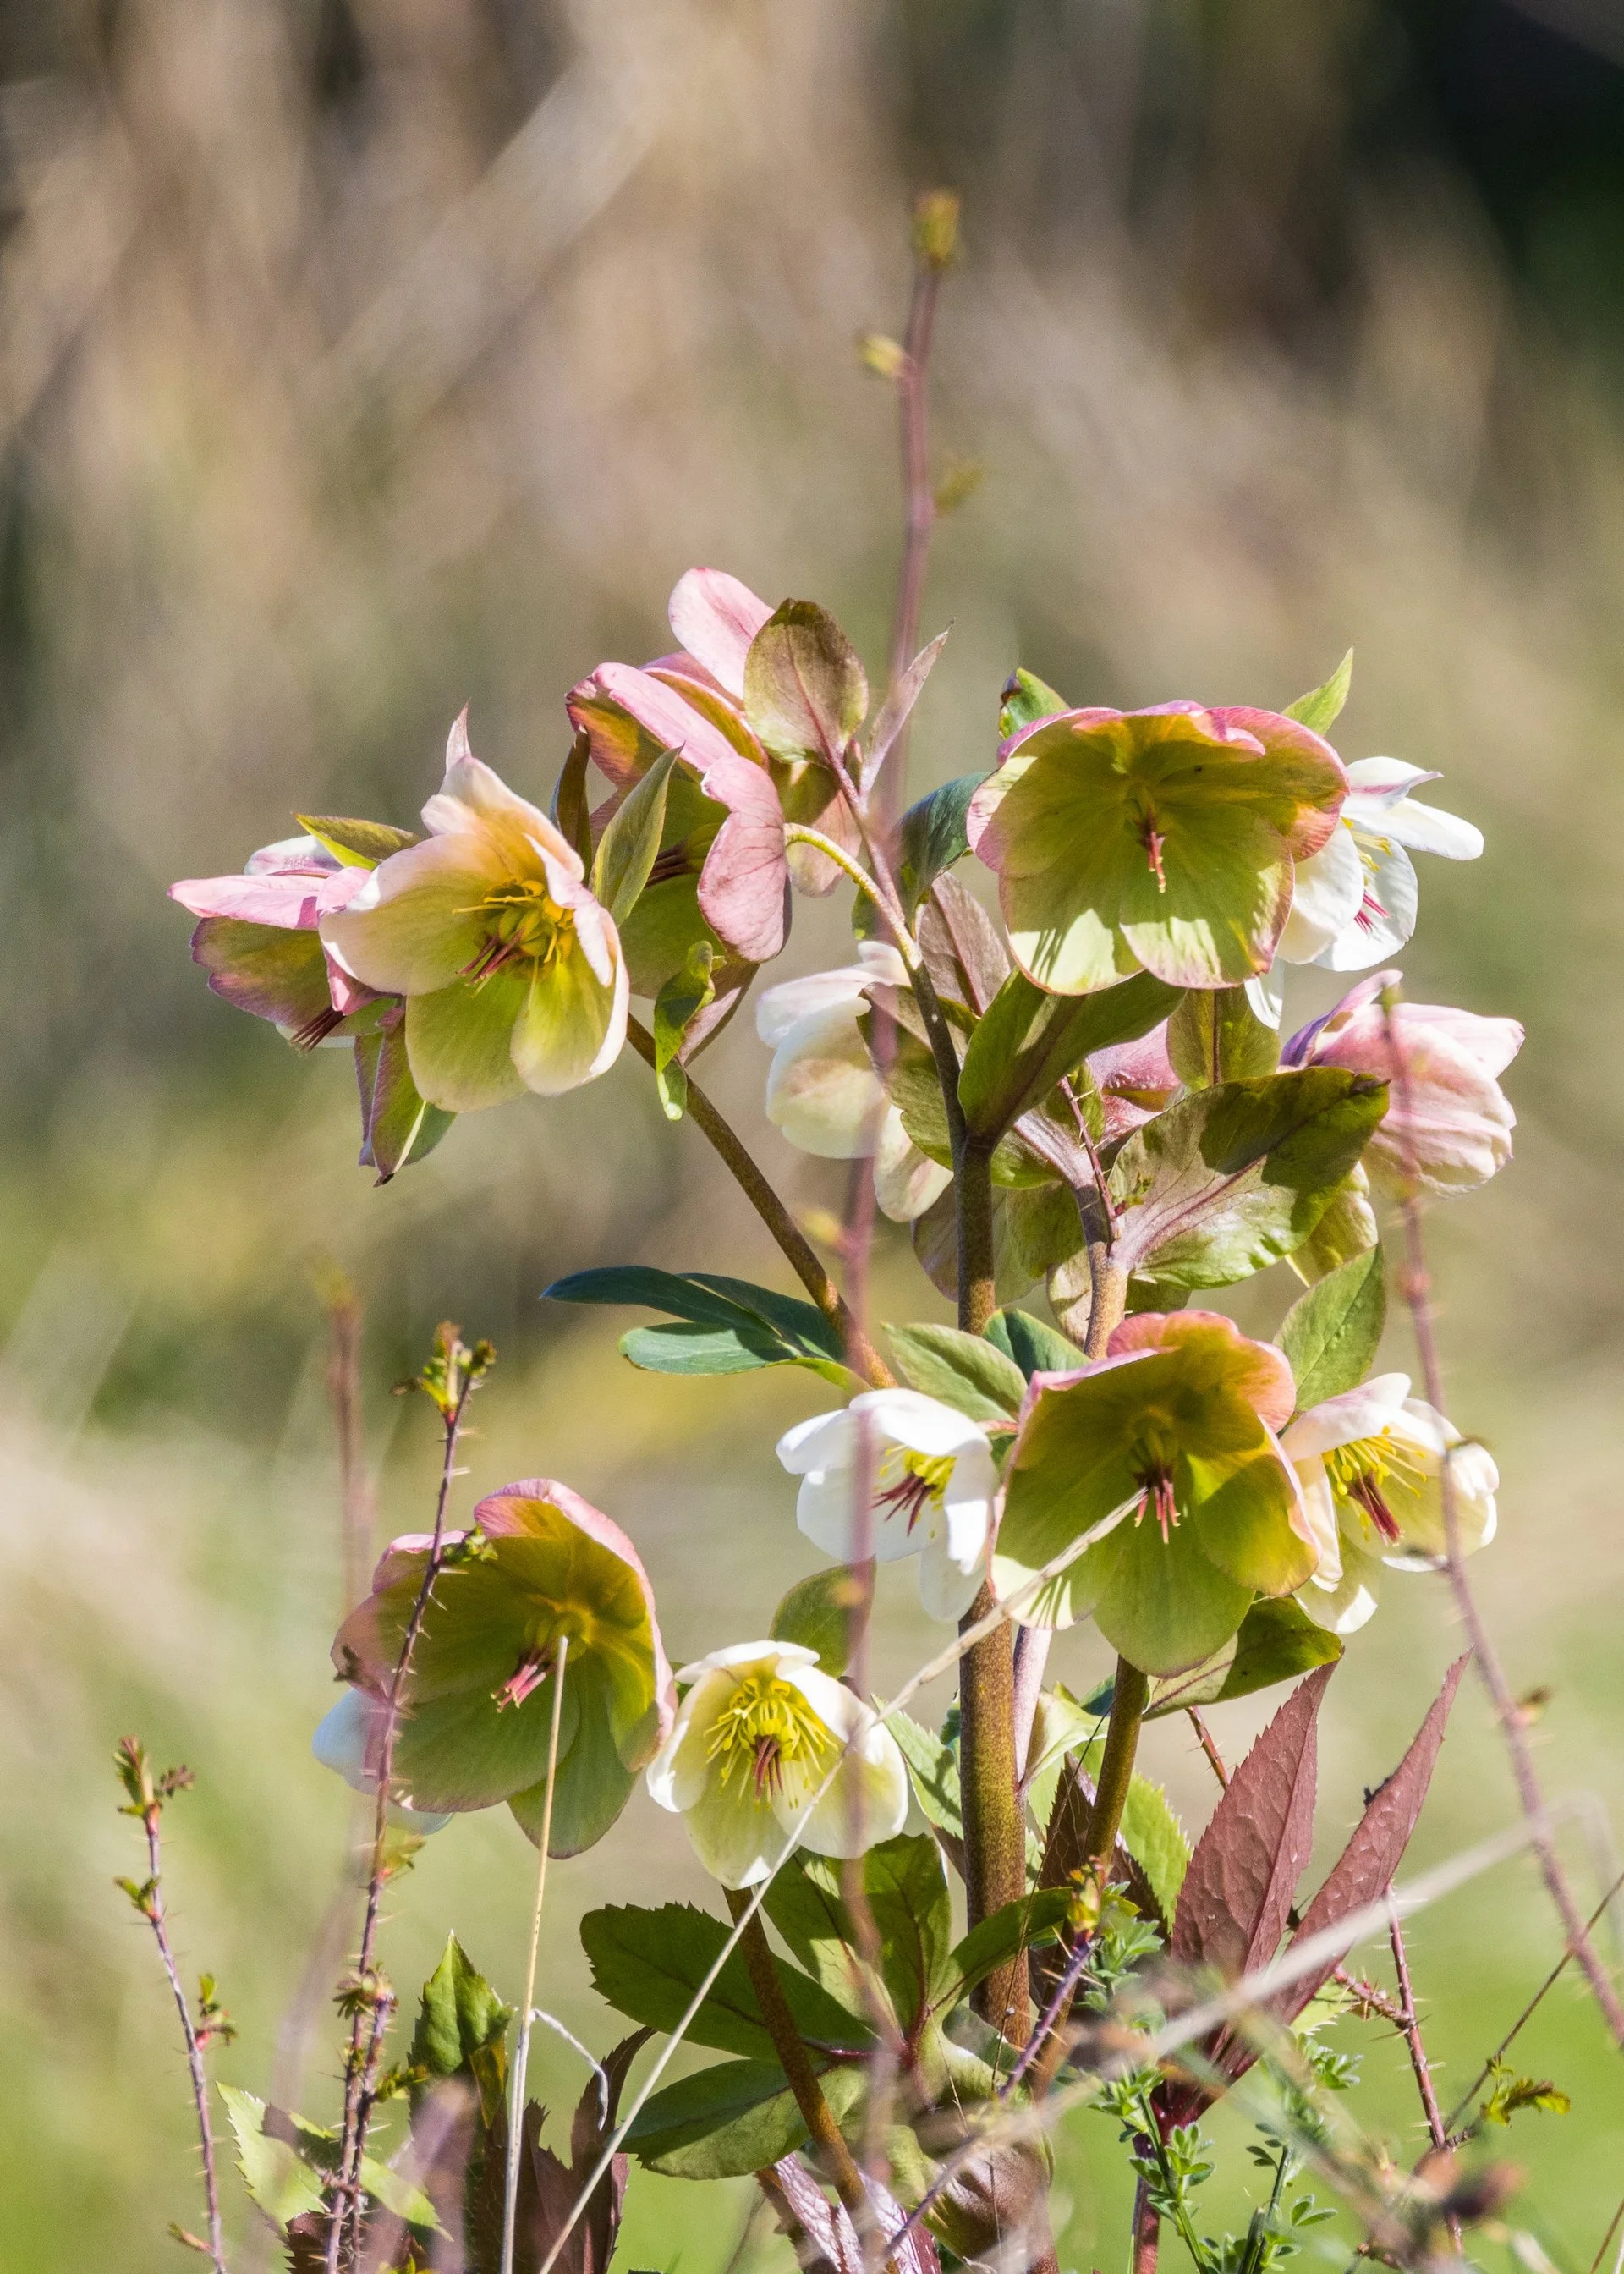
{"type": "MultiPolygon", "coordinates": [[[[400,1796],[434,1815],[507,1801],[539,1840],[569,1637],[550,1853],[575,1856],[614,1824],[671,1728],[648,1576],[625,1533],[550,1478],[494,1492],[448,1546],[403,1692],[400,1796]]],[[[373,1699],[389,1696],[428,1553],[428,1535],[396,1539],[332,1644],[339,1674],[373,1699]]]]}

